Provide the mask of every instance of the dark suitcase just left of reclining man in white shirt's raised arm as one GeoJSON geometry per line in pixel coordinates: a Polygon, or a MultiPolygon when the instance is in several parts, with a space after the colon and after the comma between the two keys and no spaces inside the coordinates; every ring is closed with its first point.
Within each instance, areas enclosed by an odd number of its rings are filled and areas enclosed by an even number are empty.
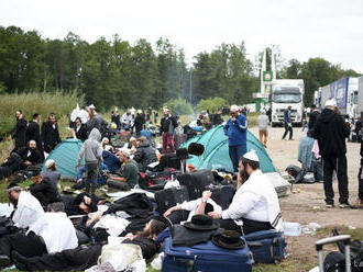
{"type": "Polygon", "coordinates": [[[189,201],[188,190],[186,186],[164,189],[155,192],[155,201],[157,211],[161,214],[164,214],[168,208],[176,204],[189,201]]]}

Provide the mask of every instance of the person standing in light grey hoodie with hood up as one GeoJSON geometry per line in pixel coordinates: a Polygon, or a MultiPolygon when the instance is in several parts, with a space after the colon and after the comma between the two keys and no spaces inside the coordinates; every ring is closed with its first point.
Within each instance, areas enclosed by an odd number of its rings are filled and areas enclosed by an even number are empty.
{"type": "Polygon", "coordinates": [[[99,162],[102,161],[102,147],[101,147],[101,134],[95,127],[90,134],[88,139],[84,143],[79,150],[78,158],[78,167],[80,167],[80,162],[82,158],[85,158],[86,163],[86,192],[95,193],[97,185],[97,177],[98,177],[98,166],[99,162]]]}

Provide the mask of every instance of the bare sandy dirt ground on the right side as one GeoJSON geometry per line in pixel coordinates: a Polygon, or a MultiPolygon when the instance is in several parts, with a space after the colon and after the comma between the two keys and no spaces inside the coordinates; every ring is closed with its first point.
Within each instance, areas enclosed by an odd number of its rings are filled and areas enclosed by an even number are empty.
{"type": "MultiPolygon", "coordinates": [[[[252,128],[251,132],[257,136],[256,127],[252,128]]],[[[267,152],[278,171],[284,171],[288,165],[300,166],[297,161],[298,145],[300,137],[306,135],[306,131],[301,132],[301,128],[294,127],[294,140],[282,140],[284,129],[280,127],[271,128],[268,133],[267,152]]],[[[348,143],[346,149],[350,203],[353,204],[358,197],[360,144],[348,143]]],[[[334,181],[336,204],[339,203],[337,183],[334,181]]],[[[315,241],[326,235],[329,236],[328,230],[332,226],[363,228],[363,211],[341,209],[339,207],[327,209],[323,202],[322,183],[295,184],[293,191],[295,193],[280,199],[284,220],[297,222],[301,225],[318,223],[327,229],[320,236],[301,235],[299,237],[287,238],[289,258],[297,261],[297,263],[306,264],[304,268],[294,269],[294,271],[308,271],[307,268],[312,268],[317,263],[317,252],[314,247],[315,241]]],[[[289,262],[288,259],[287,262],[289,262]]]]}

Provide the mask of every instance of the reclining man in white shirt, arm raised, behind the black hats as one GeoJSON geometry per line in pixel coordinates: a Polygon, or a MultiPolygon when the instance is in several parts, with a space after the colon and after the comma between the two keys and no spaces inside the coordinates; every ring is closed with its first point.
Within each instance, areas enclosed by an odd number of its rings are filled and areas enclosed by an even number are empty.
{"type": "Polygon", "coordinates": [[[202,197],[184,202],[179,205],[170,207],[164,213],[172,224],[180,224],[182,222],[190,222],[194,215],[208,214],[210,212],[221,213],[222,208],[212,200],[210,191],[202,192],[202,197]]]}

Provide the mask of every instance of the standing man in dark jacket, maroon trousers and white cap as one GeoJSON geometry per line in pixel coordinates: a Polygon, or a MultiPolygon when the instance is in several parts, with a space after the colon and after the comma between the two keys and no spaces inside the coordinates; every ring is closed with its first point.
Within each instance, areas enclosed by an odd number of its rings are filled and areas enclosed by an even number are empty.
{"type": "MultiPolygon", "coordinates": [[[[168,109],[164,109],[164,116],[161,121],[161,132],[163,134],[163,154],[167,154],[167,147],[172,152],[174,148],[174,129],[178,126],[176,118],[169,113],[168,109]]],[[[180,132],[179,132],[180,134],[180,132]]]]}

